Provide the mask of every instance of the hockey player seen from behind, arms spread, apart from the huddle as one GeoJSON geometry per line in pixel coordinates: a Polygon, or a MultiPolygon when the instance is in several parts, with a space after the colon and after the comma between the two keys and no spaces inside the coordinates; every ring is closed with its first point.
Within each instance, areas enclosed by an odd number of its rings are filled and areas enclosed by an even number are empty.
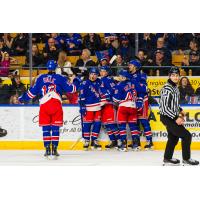
{"type": "Polygon", "coordinates": [[[56,74],[56,63],[49,60],[48,74],[39,75],[35,84],[19,97],[20,102],[29,101],[40,95],[39,126],[43,130],[46,157],[59,156],[57,147],[59,143],[59,127],[63,126],[62,92],[76,92],[76,86],[67,81],[66,77],[56,74]]]}

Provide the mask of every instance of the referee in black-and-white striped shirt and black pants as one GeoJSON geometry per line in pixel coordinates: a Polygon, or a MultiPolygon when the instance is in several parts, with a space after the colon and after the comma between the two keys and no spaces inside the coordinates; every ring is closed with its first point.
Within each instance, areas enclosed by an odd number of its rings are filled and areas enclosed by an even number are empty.
{"type": "Polygon", "coordinates": [[[183,165],[198,165],[199,162],[190,158],[190,145],[192,135],[185,129],[185,113],[179,106],[180,93],[178,82],[180,72],[178,67],[171,67],[169,70],[169,79],[161,89],[160,99],[160,120],[166,126],[168,132],[168,141],[164,154],[164,165],[179,165],[180,160],[172,158],[175,146],[181,138],[183,165]]]}

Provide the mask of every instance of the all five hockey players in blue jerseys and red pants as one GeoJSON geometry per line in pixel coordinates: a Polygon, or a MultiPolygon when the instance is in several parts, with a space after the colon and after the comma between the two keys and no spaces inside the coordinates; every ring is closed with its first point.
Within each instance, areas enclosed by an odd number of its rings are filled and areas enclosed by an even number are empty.
{"type": "Polygon", "coordinates": [[[145,149],[152,149],[152,133],[148,121],[147,77],[141,72],[141,64],[131,60],[128,70],[119,72],[119,79],[111,77],[109,66],[91,67],[89,78],[75,78],[70,83],[66,77],[56,74],[57,65],[48,61],[47,74],[39,75],[35,84],[21,97],[21,103],[40,95],[39,125],[43,130],[45,156],[59,156],[59,128],[63,125],[62,93],[79,91],[84,149],[101,149],[98,136],[104,126],[110,143],[106,149],[127,151],[128,147],[140,150],[140,125],[146,136],[145,149]],[[99,76],[100,75],[100,76],[99,76]],[[116,114],[117,113],[117,114],[116,114]],[[127,145],[129,126],[132,144],[127,145]]]}

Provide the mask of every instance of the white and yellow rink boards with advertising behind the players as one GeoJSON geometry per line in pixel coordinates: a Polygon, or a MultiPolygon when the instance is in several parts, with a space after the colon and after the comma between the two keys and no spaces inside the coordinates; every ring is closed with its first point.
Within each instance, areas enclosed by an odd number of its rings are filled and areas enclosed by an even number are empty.
{"type": "MultiPolygon", "coordinates": [[[[192,149],[200,149],[200,106],[187,105],[182,107],[187,113],[185,127],[192,133],[192,149]]],[[[64,126],[60,130],[60,145],[63,150],[81,150],[81,118],[79,107],[67,105],[64,110],[64,126]],[[78,141],[78,142],[77,142],[78,141]]],[[[0,106],[0,126],[6,129],[8,134],[0,137],[0,149],[43,149],[42,131],[38,126],[39,106],[0,106]]],[[[167,133],[160,122],[159,109],[151,108],[149,120],[153,132],[155,149],[162,150],[165,147],[167,133]]],[[[128,131],[129,132],[129,131],[128,131]]],[[[130,139],[130,136],[128,136],[130,139]]],[[[102,128],[99,140],[103,144],[108,143],[108,136],[102,128]]],[[[142,146],[145,138],[141,137],[142,146]]],[[[180,149],[180,144],[177,149],[180,149]]]]}

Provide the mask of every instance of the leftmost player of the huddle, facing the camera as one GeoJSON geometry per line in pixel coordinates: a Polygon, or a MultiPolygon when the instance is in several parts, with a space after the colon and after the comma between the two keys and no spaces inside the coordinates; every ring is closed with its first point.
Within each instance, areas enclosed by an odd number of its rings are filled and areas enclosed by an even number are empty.
{"type": "Polygon", "coordinates": [[[98,79],[99,71],[97,68],[91,68],[89,79],[80,86],[80,111],[83,120],[83,138],[85,143],[83,148],[101,150],[101,145],[97,138],[101,129],[101,103],[106,100],[105,92],[101,93],[101,80],[98,79]],[[93,125],[93,127],[92,127],[93,125]],[[91,130],[92,129],[92,130],[91,130]]]}

